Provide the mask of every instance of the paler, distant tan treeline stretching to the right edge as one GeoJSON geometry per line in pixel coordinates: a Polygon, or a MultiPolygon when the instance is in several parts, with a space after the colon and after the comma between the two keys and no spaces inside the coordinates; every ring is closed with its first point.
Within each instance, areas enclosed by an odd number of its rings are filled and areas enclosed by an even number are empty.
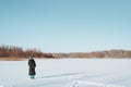
{"type": "Polygon", "coordinates": [[[55,58],[131,58],[131,50],[52,53],[55,58]]]}

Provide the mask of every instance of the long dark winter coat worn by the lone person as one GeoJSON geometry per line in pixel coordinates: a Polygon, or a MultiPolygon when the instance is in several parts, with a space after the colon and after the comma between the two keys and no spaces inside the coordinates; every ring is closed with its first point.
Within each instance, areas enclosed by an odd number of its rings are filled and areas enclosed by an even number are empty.
{"type": "Polygon", "coordinates": [[[29,66],[28,75],[35,75],[36,74],[36,72],[35,72],[36,63],[34,61],[34,59],[28,60],[28,66],[29,66]]]}

